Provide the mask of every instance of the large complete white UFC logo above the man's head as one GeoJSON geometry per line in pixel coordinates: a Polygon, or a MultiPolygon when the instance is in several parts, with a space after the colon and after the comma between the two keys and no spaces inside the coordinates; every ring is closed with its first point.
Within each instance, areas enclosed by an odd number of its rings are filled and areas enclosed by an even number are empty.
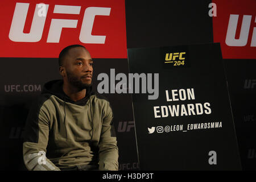
{"type": "MultiPolygon", "coordinates": [[[[42,4],[36,4],[30,32],[23,33],[29,3],[16,3],[13,21],[9,32],[9,39],[14,42],[39,42],[42,38],[49,5],[44,5],[45,16],[39,14],[42,4]]],[[[81,6],[55,5],[53,13],[80,14],[81,6]]],[[[79,40],[86,44],[104,44],[105,35],[92,35],[94,17],[96,15],[109,16],[110,7],[88,7],[85,9],[79,40]]],[[[47,43],[59,43],[62,28],[76,28],[77,19],[51,19],[47,43]]]]}

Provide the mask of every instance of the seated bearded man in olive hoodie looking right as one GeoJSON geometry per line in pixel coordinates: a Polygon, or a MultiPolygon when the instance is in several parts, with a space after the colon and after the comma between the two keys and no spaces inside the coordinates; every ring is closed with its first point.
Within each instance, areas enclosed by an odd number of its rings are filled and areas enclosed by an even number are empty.
{"type": "Polygon", "coordinates": [[[91,92],[93,60],[72,45],[59,55],[63,80],[49,81],[26,121],[23,158],[28,170],[118,170],[113,113],[91,92]]]}

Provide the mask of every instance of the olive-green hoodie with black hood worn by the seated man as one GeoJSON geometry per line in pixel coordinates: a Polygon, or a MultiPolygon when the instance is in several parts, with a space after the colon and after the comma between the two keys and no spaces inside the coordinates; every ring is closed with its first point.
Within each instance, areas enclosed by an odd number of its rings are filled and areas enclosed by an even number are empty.
{"type": "Polygon", "coordinates": [[[28,170],[60,170],[78,164],[118,170],[112,108],[91,90],[74,102],[63,92],[63,80],[44,85],[26,121],[23,158],[28,170]]]}

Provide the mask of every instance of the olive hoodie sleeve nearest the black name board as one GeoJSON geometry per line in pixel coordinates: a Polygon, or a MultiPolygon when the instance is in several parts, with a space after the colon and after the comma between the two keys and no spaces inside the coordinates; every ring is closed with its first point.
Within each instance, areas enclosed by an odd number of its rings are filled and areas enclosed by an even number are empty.
{"type": "Polygon", "coordinates": [[[99,142],[99,169],[118,171],[118,147],[114,133],[113,112],[107,102],[99,142]]]}

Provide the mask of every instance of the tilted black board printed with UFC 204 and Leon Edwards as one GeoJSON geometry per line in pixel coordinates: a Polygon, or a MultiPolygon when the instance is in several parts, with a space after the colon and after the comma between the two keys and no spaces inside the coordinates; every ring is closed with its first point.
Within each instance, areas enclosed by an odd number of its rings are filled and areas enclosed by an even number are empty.
{"type": "Polygon", "coordinates": [[[127,52],[140,168],[240,170],[220,44],[127,52]]]}

